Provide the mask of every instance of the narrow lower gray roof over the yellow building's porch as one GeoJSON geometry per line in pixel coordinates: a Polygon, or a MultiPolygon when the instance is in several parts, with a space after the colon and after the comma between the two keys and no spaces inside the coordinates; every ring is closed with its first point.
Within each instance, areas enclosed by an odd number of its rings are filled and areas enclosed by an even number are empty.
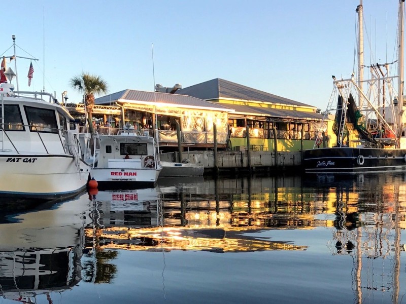
{"type": "Polygon", "coordinates": [[[244,114],[253,116],[265,116],[274,118],[292,118],[292,119],[310,119],[310,120],[323,120],[323,115],[315,112],[304,112],[296,110],[281,110],[274,108],[264,108],[259,106],[227,104],[227,107],[234,109],[232,114],[244,114]]]}

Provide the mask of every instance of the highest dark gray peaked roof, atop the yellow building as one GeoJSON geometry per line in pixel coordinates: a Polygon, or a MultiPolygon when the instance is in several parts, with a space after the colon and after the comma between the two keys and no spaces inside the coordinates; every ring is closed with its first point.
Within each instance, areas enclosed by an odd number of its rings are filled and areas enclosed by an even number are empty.
{"type": "MultiPolygon", "coordinates": [[[[216,78],[197,85],[193,85],[175,94],[194,96],[200,99],[213,100],[220,98],[260,101],[274,104],[288,104],[296,106],[314,107],[288,98],[259,91],[250,87],[239,85],[224,79],[216,78]]],[[[316,107],[314,107],[316,109],[316,107]]]]}

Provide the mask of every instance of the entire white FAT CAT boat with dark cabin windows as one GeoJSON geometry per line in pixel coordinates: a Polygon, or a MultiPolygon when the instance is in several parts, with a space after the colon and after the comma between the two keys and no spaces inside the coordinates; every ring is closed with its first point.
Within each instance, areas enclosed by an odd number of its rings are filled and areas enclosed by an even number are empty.
{"type": "Polygon", "coordinates": [[[0,197],[64,199],[83,191],[91,166],[73,117],[51,94],[14,90],[4,78],[12,81],[10,73],[1,72],[0,197]]]}

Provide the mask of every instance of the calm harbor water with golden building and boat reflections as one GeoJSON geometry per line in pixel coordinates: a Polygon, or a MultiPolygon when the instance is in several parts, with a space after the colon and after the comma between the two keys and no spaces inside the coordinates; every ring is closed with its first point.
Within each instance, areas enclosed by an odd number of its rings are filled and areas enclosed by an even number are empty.
{"type": "Polygon", "coordinates": [[[406,302],[405,174],[158,185],[3,208],[0,303],[406,302]]]}

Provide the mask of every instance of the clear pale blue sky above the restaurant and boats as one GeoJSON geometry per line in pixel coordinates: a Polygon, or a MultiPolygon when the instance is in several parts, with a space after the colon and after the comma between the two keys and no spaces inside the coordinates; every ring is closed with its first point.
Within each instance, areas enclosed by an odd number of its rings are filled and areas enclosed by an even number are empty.
{"type": "MultiPolygon", "coordinates": [[[[331,75],[354,69],[359,0],[19,0],[2,10],[0,54],[17,58],[19,90],[81,95],[89,72],[109,93],[183,88],[221,78],[324,110],[331,75]],[[154,81],[155,79],[155,81],[154,81]]],[[[392,62],[397,0],[363,0],[365,64],[392,62]],[[371,54],[378,55],[371,55],[371,54]],[[370,59],[373,58],[373,59],[370,59]]],[[[15,70],[14,62],[9,65],[15,70]]],[[[16,87],[16,81],[13,82],[16,87]]]]}

